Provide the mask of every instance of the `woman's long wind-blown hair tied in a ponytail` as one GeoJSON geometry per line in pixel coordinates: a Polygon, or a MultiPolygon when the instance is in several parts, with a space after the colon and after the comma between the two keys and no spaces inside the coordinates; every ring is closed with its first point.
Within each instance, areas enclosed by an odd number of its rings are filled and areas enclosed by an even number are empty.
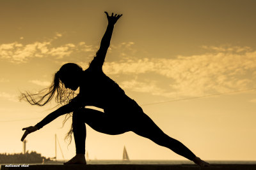
{"type": "MultiPolygon", "coordinates": [[[[70,103],[70,101],[77,95],[74,90],[66,89],[65,85],[61,82],[60,77],[63,77],[67,71],[70,69],[82,70],[83,69],[74,63],[67,63],[61,66],[60,71],[57,71],[54,74],[53,81],[50,87],[45,88],[37,92],[36,94],[31,94],[30,92],[21,93],[20,101],[25,100],[28,101],[29,104],[37,105],[37,106],[44,106],[45,104],[49,103],[55,96],[55,101],[57,106],[65,105],[70,103]]],[[[57,107],[56,106],[56,107],[57,107]]],[[[68,113],[63,120],[63,125],[67,122],[68,118],[72,117],[72,113],[68,113]]],[[[63,127],[62,125],[62,127],[63,127]]],[[[69,138],[69,144],[72,141],[72,132],[73,127],[71,126],[70,131],[67,133],[65,139],[69,138]]],[[[68,145],[69,145],[68,144],[68,145]]]]}

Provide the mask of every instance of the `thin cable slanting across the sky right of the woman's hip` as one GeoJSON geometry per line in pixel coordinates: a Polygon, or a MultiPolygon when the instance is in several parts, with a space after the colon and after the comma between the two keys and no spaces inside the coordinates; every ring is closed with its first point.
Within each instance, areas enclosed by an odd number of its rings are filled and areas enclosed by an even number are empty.
{"type": "Polygon", "coordinates": [[[253,88],[253,89],[246,89],[246,90],[237,90],[237,91],[225,92],[225,93],[220,93],[220,94],[209,94],[209,95],[198,96],[198,97],[188,97],[188,98],[182,98],[182,99],[173,99],[172,101],[163,101],[163,102],[156,102],[156,103],[147,103],[147,104],[141,104],[141,106],[149,106],[149,105],[163,104],[163,103],[172,103],[172,102],[175,102],[175,101],[189,101],[189,100],[200,99],[200,98],[204,98],[204,97],[223,96],[223,95],[227,95],[227,94],[234,94],[234,93],[238,93],[238,92],[248,92],[248,91],[252,91],[252,90],[256,90],[256,88],[253,88]]]}

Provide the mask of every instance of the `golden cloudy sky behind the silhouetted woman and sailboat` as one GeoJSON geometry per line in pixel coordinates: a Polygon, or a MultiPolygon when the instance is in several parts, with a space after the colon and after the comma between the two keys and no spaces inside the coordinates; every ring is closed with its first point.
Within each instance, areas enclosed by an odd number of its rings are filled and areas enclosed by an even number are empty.
{"type": "MultiPolygon", "coordinates": [[[[198,157],[255,160],[255,5],[247,0],[1,0],[0,153],[22,152],[21,129],[54,106],[20,103],[20,92],[47,87],[66,62],[86,69],[106,30],[108,11],[123,16],[104,72],[198,157]],[[164,101],[172,102],[146,105],[164,101]]],[[[63,118],[30,134],[28,150],[54,157],[56,133],[65,159],[73,157],[74,141],[68,148],[63,141],[71,122],[61,129],[63,118]]],[[[122,159],[124,145],[130,159],[184,159],[132,132],[109,136],[87,130],[92,159],[122,159]]]]}

